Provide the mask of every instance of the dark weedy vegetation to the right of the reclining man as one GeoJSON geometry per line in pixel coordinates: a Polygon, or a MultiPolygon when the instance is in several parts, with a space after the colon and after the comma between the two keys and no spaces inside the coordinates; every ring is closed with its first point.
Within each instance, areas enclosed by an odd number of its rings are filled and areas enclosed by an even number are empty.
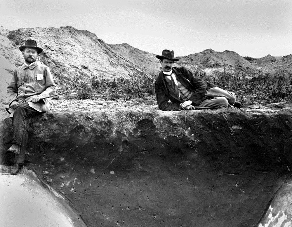
{"type": "Polygon", "coordinates": [[[263,74],[261,70],[251,74],[216,72],[212,76],[206,76],[204,73],[197,76],[220,88],[235,92],[241,101],[246,100],[248,104],[254,101],[270,103],[284,100],[291,103],[292,74],[288,71],[278,70],[273,74],[263,74]]]}

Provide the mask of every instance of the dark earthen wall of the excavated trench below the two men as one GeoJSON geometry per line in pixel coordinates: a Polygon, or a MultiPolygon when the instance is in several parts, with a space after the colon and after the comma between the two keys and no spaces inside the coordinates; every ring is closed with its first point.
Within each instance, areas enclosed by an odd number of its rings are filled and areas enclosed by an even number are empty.
{"type": "MultiPolygon", "coordinates": [[[[26,165],[87,226],[256,226],[289,175],[291,116],[50,111],[32,121],[26,165]]],[[[2,112],[2,153],[10,124],[2,112]]]]}

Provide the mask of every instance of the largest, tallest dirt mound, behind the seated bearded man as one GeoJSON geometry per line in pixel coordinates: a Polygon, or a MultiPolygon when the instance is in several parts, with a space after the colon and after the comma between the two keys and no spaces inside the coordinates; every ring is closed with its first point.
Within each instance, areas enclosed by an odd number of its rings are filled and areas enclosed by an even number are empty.
{"type": "MultiPolygon", "coordinates": [[[[7,30],[2,29],[1,33],[1,37],[7,36],[7,30]]],[[[72,85],[76,80],[89,81],[93,76],[113,79],[149,75],[98,39],[95,34],[71,26],[21,28],[8,32],[7,37],[6,42],[10,41],[14,52],[18,54],[21,54],[18,47],[27,39],[36,40],[38,46],[44,49],[39,60],[51,68],[59,85],[72,85]]],[[[12,54],[8,57],[11,59],[12,54]]],[[[22,61],[17,59],[12,63],[20,64],[22,61]]]]}

